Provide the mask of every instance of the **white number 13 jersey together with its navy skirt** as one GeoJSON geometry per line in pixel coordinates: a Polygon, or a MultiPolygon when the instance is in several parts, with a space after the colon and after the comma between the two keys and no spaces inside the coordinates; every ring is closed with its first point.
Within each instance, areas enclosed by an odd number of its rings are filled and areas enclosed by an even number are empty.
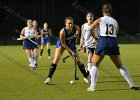
{"type": "Polygon", "coordinates": [[[96,46],[95,54],[97,55],[120,55],[117,31],[117,21],[110,17],[100,18],[100,38],[96,46]]]}

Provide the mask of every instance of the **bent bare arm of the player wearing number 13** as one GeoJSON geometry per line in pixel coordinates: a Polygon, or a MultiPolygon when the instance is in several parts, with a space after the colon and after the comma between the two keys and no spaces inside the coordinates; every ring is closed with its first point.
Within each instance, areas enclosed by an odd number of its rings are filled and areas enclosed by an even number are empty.
{"type": "Polygon", "coordinates": [[[94,30],[95,30],[96,27],[99,26],[99,24],[100,24],[100,19],[96,19],[96,20],[91,24],[90,29],[89,29],[89,30],[90,30],[90,33],[91,33],[91,36],[92,36],[93,38],[95,38],[96,40],[98,40],[98,38],[95,36],[94,30]]]}

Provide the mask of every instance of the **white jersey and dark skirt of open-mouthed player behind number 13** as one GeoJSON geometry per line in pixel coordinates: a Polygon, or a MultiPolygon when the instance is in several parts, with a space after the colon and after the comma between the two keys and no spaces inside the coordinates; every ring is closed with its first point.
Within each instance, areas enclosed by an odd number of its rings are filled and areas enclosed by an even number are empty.
{"type": "MultiPolygon", "coordinates": [[[[83,31],[82,31],[82,35],[83,35],[83,38],[84,38],[84,44],[83,45],[88,45],[88,44],[90,44],[91,42],[93,42],[93,41],[96,41],[91,35],[90,35],[90,30],[89,30],[89,28],[90,28],[90,25],[88,25],[88,23],[85,23],[84,25],[83,25],[83,31]]],[[[95,36],[96,37],[98,37],[98,35],[99,35],[99,28],[95,28],[94,29],[94,34],[95,34],[95,36]]],[[[94,53],[94,48],[96,47],[96,43],[92,43],[91,45],[89,45],[88,46],[88,49],[92,52],[92,53],[94,53]]]]}

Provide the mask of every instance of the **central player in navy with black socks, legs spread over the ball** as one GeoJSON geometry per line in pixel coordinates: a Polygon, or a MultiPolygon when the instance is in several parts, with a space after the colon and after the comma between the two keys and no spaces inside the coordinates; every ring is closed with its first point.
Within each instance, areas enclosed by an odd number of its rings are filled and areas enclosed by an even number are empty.
{"type": "Polygon", "coordinates": [[[57,40],[55,56],[53,62],[51,63],[49,74],[47,79],[45,80],[45,84],[49,84],[51,82],[52,76],[55,72],[57,64],[65,50],[69,52],[69,54],[75,59],[78,64],[78,67],[81,73],[84,76],[84,81],[88,82],[87,77],[89,72],[85,70],[84,64],[80,61],[78,54],[76,53],[76,39],[79,36],[80,28],[77,25],[73,24],[72,17],[65,18],[65,27],[60,30],[59,39],[57,40]]]}

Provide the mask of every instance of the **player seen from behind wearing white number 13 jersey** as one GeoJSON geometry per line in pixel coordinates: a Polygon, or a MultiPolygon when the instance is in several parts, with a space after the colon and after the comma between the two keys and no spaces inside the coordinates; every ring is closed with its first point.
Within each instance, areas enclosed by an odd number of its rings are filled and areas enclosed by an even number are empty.
{"type": "Polygon", "coordinates": [[[109,55],[110,59],[119,69],[121,75],[128,82],[130,88],[134,90],[139,90],[139,87],[134,84],[133,80],[131,79],[127,68],[123,65],[116,38],[119,30],[119,25],[117,21],[111,17],[111,12],[112,5],[104,4],[102,6],[103,17],[95,20],[91,25],[90,30],[93,37],[95,37],[95,35],[93,34],[92,30],[94,30],[97,26],[100,27],[100,38],[98,40],[98,44],[93,55],[93,66],[91,68],[91,85],[87,89],[87,91],[96,90],[98,66],[105,55],[109,55]]]}

